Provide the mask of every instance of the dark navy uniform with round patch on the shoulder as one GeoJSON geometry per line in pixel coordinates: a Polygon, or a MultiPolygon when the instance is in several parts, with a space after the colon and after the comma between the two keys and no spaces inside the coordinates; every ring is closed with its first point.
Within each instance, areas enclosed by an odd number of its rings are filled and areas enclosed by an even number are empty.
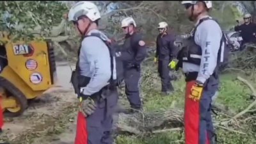
{"type": "Polygon", "coordinates": [[[145,45],[140,45],[142,41],[142,36],[138,33],[126,36],[122,50],[116,52],[116,60],[121,60],[124,63],[125,94],[132,108],[141,108],[139,91],[140,66],[147,56],[145,45]]]}

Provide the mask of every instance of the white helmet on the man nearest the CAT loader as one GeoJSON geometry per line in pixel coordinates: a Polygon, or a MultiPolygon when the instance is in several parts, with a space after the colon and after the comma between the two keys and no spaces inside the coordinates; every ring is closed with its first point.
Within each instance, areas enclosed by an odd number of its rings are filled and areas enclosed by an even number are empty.
{"type": "Polygon", "coordinates": [[[89,1],[80,1],[70,8],[68,21],[77,21],[83,15],[93,22],[100,19],[100,12],[95,4],[89,1]]]}

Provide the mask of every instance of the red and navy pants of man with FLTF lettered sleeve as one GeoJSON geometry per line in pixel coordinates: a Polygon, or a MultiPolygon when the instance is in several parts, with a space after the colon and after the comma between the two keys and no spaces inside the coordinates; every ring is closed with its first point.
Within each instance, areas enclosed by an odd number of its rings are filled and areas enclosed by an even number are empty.
{"type": "Polygon", "coordinates": [[[189,99],[195,81],[186,84],[184,127],[186,144],[211,144],[214,134],[211,119],[211,97],[215,90],[204,90],[199,101],[189,99]]]}

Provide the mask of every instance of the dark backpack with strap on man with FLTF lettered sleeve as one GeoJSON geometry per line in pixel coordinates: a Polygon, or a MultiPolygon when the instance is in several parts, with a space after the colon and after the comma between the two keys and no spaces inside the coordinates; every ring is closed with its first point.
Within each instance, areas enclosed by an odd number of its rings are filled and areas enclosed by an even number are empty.
{"type": "MultiPolygon", "coordinates": [[[[193,36],[195,36],[196,28],[205,20],[214,20],[218,23],[217,20],[212,19],[211,17],[205,17],[199,21],[199,23],[196,25],[195,29],[193,30],[193,36]]],[[[219,23],[218,23],[219,24],[219,23]]],[[[230,40],[227,38],[225,33],[222,31],[222,37],[220,41],[220,49],[218,51],[218,69],[223,70],[223,68],[227,67],[228,60],[230,57],[230,40]],[[223,54],[223,55],[221,55],[223,54]]]]}

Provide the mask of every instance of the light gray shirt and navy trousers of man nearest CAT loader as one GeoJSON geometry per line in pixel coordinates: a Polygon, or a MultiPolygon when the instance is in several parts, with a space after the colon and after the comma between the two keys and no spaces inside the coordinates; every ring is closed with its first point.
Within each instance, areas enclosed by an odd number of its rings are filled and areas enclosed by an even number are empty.
{"type": "MultiPolygon", "coordinates": [[[[99,30],[93,29],[91,33],[100,33],[102,38],[107,38],[99,30]]],[[[111,58],[106,44],[96,36],[88,36],[83,39],[79,54],[79,67],[81,75],[90,77],[90,82],[86,84],[83,95],[93,95],[104,89],[111,78],[111,58]]],[[[111,90],[106,99],[99,99],[100,95],[93,96],[92,99],[97,104],[95,112],[86,117],[89,144],[111,144],[113,113],[118,100],[116,88],[111,90]]]]}

